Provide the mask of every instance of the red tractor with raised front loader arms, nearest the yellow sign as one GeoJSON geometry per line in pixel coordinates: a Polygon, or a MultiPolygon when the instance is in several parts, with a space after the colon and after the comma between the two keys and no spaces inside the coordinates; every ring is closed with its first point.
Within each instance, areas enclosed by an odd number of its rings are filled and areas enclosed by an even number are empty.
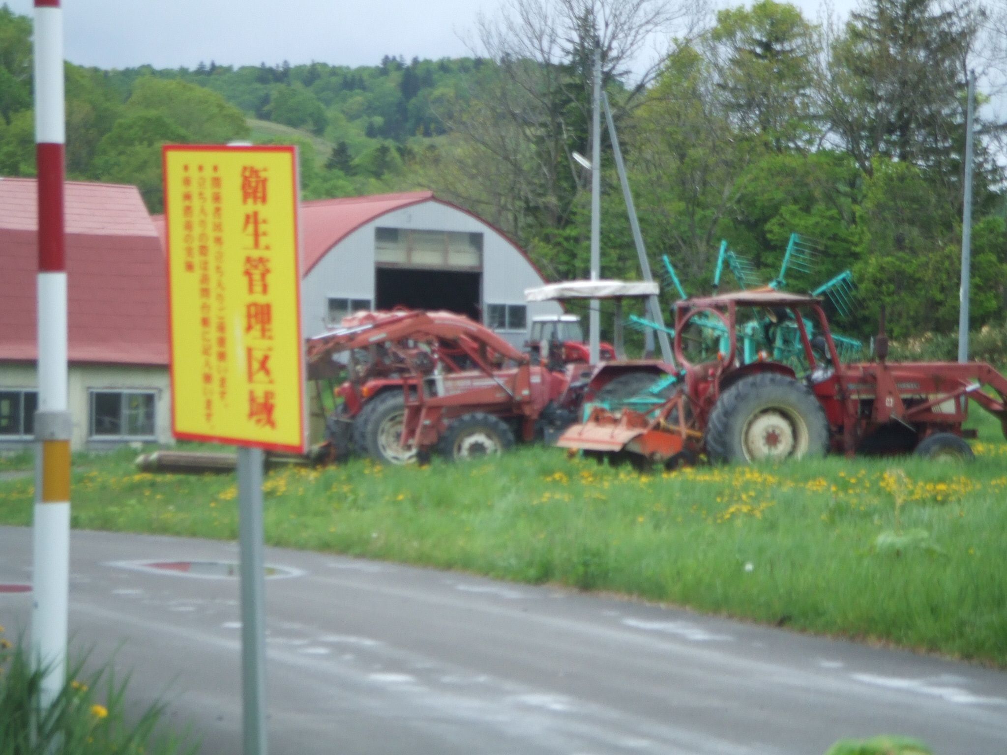
{"type": "MultiPolygon", "coordinates": [[[[308,341],[309,376],[345,372],[325,454],[405,464],[437,450],[495,454],[575,419],[576,367],[532,365],[488,328],[451,312],[363,312],[308,341]]],[[[581,381],[583,385],[583,381],[581,381]]]]}

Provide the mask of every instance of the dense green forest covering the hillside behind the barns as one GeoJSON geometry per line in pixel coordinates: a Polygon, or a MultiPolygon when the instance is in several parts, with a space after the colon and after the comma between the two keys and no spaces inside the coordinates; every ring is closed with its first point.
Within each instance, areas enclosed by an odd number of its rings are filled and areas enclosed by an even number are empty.
{"type": "MultiPolygon", "coordinates": [[[[1007,61],[998,12],[978,0],[863,0],[843,24],[823,24],[774,0],[713,15],[665,0],[510,0],[475,32],[482,57],[67,63],[67,174],[135,183],[157,211],[162,144],[293,142],[307,198],[433,188],[503,229],[550,276],[583,277],[589,178],[573,153],[590,154],[597,39],[653,264],[668,255],[698,293],[726,239],[768,281],[799,233],[819,259],[795,288],[853,270],[861,306],[848,330],[871,332],[887,301],[897,337],[948,333],[966,77],[1007,61]],[[641,71],[656,37],[668,52],[641,71]]],[[[978,328],[1007,318],[1007,193],[1004,124],[980,119],[977,134],[978,328]]],[[[602,155],[603,275],[635,277],[607,139],[602,155]]],[[[33,170],[31,22],[3,7],[0,175],[33,170]]]]}

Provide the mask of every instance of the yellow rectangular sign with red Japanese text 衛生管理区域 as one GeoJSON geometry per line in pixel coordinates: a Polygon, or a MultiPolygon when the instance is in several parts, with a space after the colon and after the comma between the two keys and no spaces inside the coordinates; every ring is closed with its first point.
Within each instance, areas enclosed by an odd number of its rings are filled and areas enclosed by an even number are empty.
{"type": "Polygon", "coordinates": [[[294,147],[164,147],[176,438],[304,450],[294,147]]]}

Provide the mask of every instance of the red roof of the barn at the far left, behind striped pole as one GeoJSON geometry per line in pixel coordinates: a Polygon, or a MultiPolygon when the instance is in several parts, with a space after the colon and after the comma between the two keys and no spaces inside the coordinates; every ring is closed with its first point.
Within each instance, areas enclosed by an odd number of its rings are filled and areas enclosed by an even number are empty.
{"type": "MultiPolygon", "coordinates": [[[[168,363],[161,243],[135,186],[67,181],[68,357],[168,363]]],[[[0,178],[0,359],[37,356],[36,185],[0,178]]]]}

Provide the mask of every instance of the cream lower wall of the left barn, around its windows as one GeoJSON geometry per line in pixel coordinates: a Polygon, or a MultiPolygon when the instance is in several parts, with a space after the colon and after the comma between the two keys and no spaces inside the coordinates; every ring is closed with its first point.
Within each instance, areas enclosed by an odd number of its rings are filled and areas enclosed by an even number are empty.
{"type": "MultiPolygon", "coordinates": [[[[68,373],[69,412],[74,420],[70,445],[75,450],[100,450],[124,441],[90,437],[92,391],[150,391],[154,394],[154,433],[150,442],[173,443],[171,437],[171,391],[167,367],[70,364],[68,373]]],[[[34,364],[0,363],[0,389],[37,387],[34,364]]],[[[4,440],[0,452],[23,447],[29,441],[4,440]]]]}

